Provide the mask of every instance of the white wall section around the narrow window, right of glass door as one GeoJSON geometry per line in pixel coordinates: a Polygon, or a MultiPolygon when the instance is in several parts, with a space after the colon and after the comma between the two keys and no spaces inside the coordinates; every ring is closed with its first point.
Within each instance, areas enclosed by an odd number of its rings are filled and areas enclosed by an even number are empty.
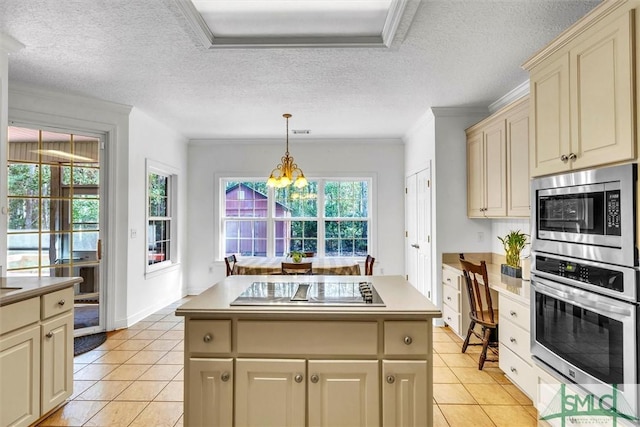
{"type": "MultiPolygon", "coordinates": [[[[128,194],[128,273],[127,323],[142,320],[149,314],[186,295],[183,280],[187,258],[187,140],[176,131],[153,119],[138,108],[129,116],[129,194],[128,194]],[[146,161],[166,165],[178,180],[178,204],[175,225],[178,227],[179,264],[145,275],[147,263],[146,161]],[[131,230],[136,237],[131,237],[131,230]]],[[[125,232],[127,232],[125,231],[125,232]]]]}

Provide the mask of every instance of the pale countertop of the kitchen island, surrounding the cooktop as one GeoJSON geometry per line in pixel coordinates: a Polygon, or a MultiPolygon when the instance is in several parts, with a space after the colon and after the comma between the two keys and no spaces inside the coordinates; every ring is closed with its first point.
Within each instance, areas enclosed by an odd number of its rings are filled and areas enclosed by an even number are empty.
{"type": "MultiPolygon", "coordinates": [[[[440,317],[441,311],[424,295],[418,292],[402,276],[229,276],[207,289],[191,301],[178,307],[179,316],[199,315],[274,315],[287,314],[289,317],[323,317],[328,314],[340,317],[363,317],[383,315],[385,318],[401,317],[422,319],[440,317]],[[385,303],[377,306],[231,306],[253,282],[371,282],[385,303]]],[[[332,316],[332,317],[333,317],[332,316]]]]}

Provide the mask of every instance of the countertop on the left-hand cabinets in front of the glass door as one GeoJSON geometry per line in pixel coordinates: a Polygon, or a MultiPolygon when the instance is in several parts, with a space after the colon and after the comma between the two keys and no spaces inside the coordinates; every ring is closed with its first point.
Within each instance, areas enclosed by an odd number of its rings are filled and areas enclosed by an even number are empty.
{"type": "Polygon", "coordinates": [[[0,306],[68,288],[82,280],[82,277],[0,277],[0,306]]]}

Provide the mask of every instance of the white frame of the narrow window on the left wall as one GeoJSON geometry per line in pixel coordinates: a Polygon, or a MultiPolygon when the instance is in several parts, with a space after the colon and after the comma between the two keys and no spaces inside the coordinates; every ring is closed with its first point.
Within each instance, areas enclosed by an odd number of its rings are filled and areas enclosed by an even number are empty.
{"type": "Polygon", "coordinates": [[[144,262],[145,274],[154,273],[160,270],[170,268],[178,263],[178,171],[164,163],[146,159],[145,164],[145,232],[144,232],[144,262]],[[150,207],[150,191],[149,191],[149,175],[155,174],[167,178],[167,215],[151,216],[149,214],[150,207]],[[167,259],[149,264],[149,226],[151,221],[167,221],[169,225],[168,233],[168,252],[167,259]]]}

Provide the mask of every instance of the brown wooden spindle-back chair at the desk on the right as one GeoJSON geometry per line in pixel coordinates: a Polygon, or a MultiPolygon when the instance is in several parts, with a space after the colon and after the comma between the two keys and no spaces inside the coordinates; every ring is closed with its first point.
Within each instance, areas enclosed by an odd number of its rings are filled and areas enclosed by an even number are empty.
{"type": "Polygon", "coordinates": [[[498,310],[493,308],[491,301],[491,291],[489,289],[489,278],[487,276],[487,264],[480,261],[480,265],[473,264],[464,259],[460,254],[460,265],[464,274],[467,294],[469,296],[469,330],[467,337],[462,343],[462,352],[467,351],[469,345],[482,345],[482,351],[478,359],[478,369],[482,370],[485,361],[497,362],[498,359],[498,310]],[[481,285],[478,276],[482,278],[481,285]],[[481,332],[475,330],[479,325],[481,332]],[[482,340],[480,343],[469,343],[471,335],[475,335],[482,340]],[[490,350],[496,358],[487,359],[487,350],[490,350]]]}

